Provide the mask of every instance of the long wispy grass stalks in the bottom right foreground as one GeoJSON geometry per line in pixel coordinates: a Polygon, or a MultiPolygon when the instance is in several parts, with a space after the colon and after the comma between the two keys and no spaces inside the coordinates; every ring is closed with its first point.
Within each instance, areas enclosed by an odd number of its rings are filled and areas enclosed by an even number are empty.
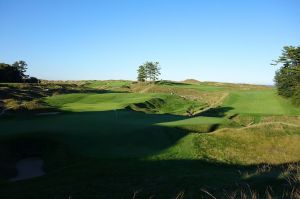
{"type": "MultiPolygon", "coordinates": [[[[267,173],[272,170],[271,165],[260,165],[256,173],[267,173]]],[[[277,187],[266,186],[265,189],[255,189],[249,184],[241,184],[238,188],[230,190],[223,188],[222,191],[213,188],[200,188],[199,196],[202,199],[299,199],[300,198],[300,164],[291,163],[281,168],[284,184],[277,187]]],[[[132,198],[139,198],[142,190],[135,191],[132,198]]],[[[159,198],[159,195],[152,195],[149,198],[159,198]]],[[[181,190],[174,195],[176,199],[191,198],[189,192],[181,190]]],[[[193,198],[193,197],[192,197],[193,198]]]]}

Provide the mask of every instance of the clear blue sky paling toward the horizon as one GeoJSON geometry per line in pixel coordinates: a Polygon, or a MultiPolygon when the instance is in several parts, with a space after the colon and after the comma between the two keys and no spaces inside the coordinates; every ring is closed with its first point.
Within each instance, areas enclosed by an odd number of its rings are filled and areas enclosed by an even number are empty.
{"type": "Polygon", "coordinates": [[[299,45],[299,0],[0,0],[0,62],[43,79],[162,79],[271,84],[299,45]]]}

